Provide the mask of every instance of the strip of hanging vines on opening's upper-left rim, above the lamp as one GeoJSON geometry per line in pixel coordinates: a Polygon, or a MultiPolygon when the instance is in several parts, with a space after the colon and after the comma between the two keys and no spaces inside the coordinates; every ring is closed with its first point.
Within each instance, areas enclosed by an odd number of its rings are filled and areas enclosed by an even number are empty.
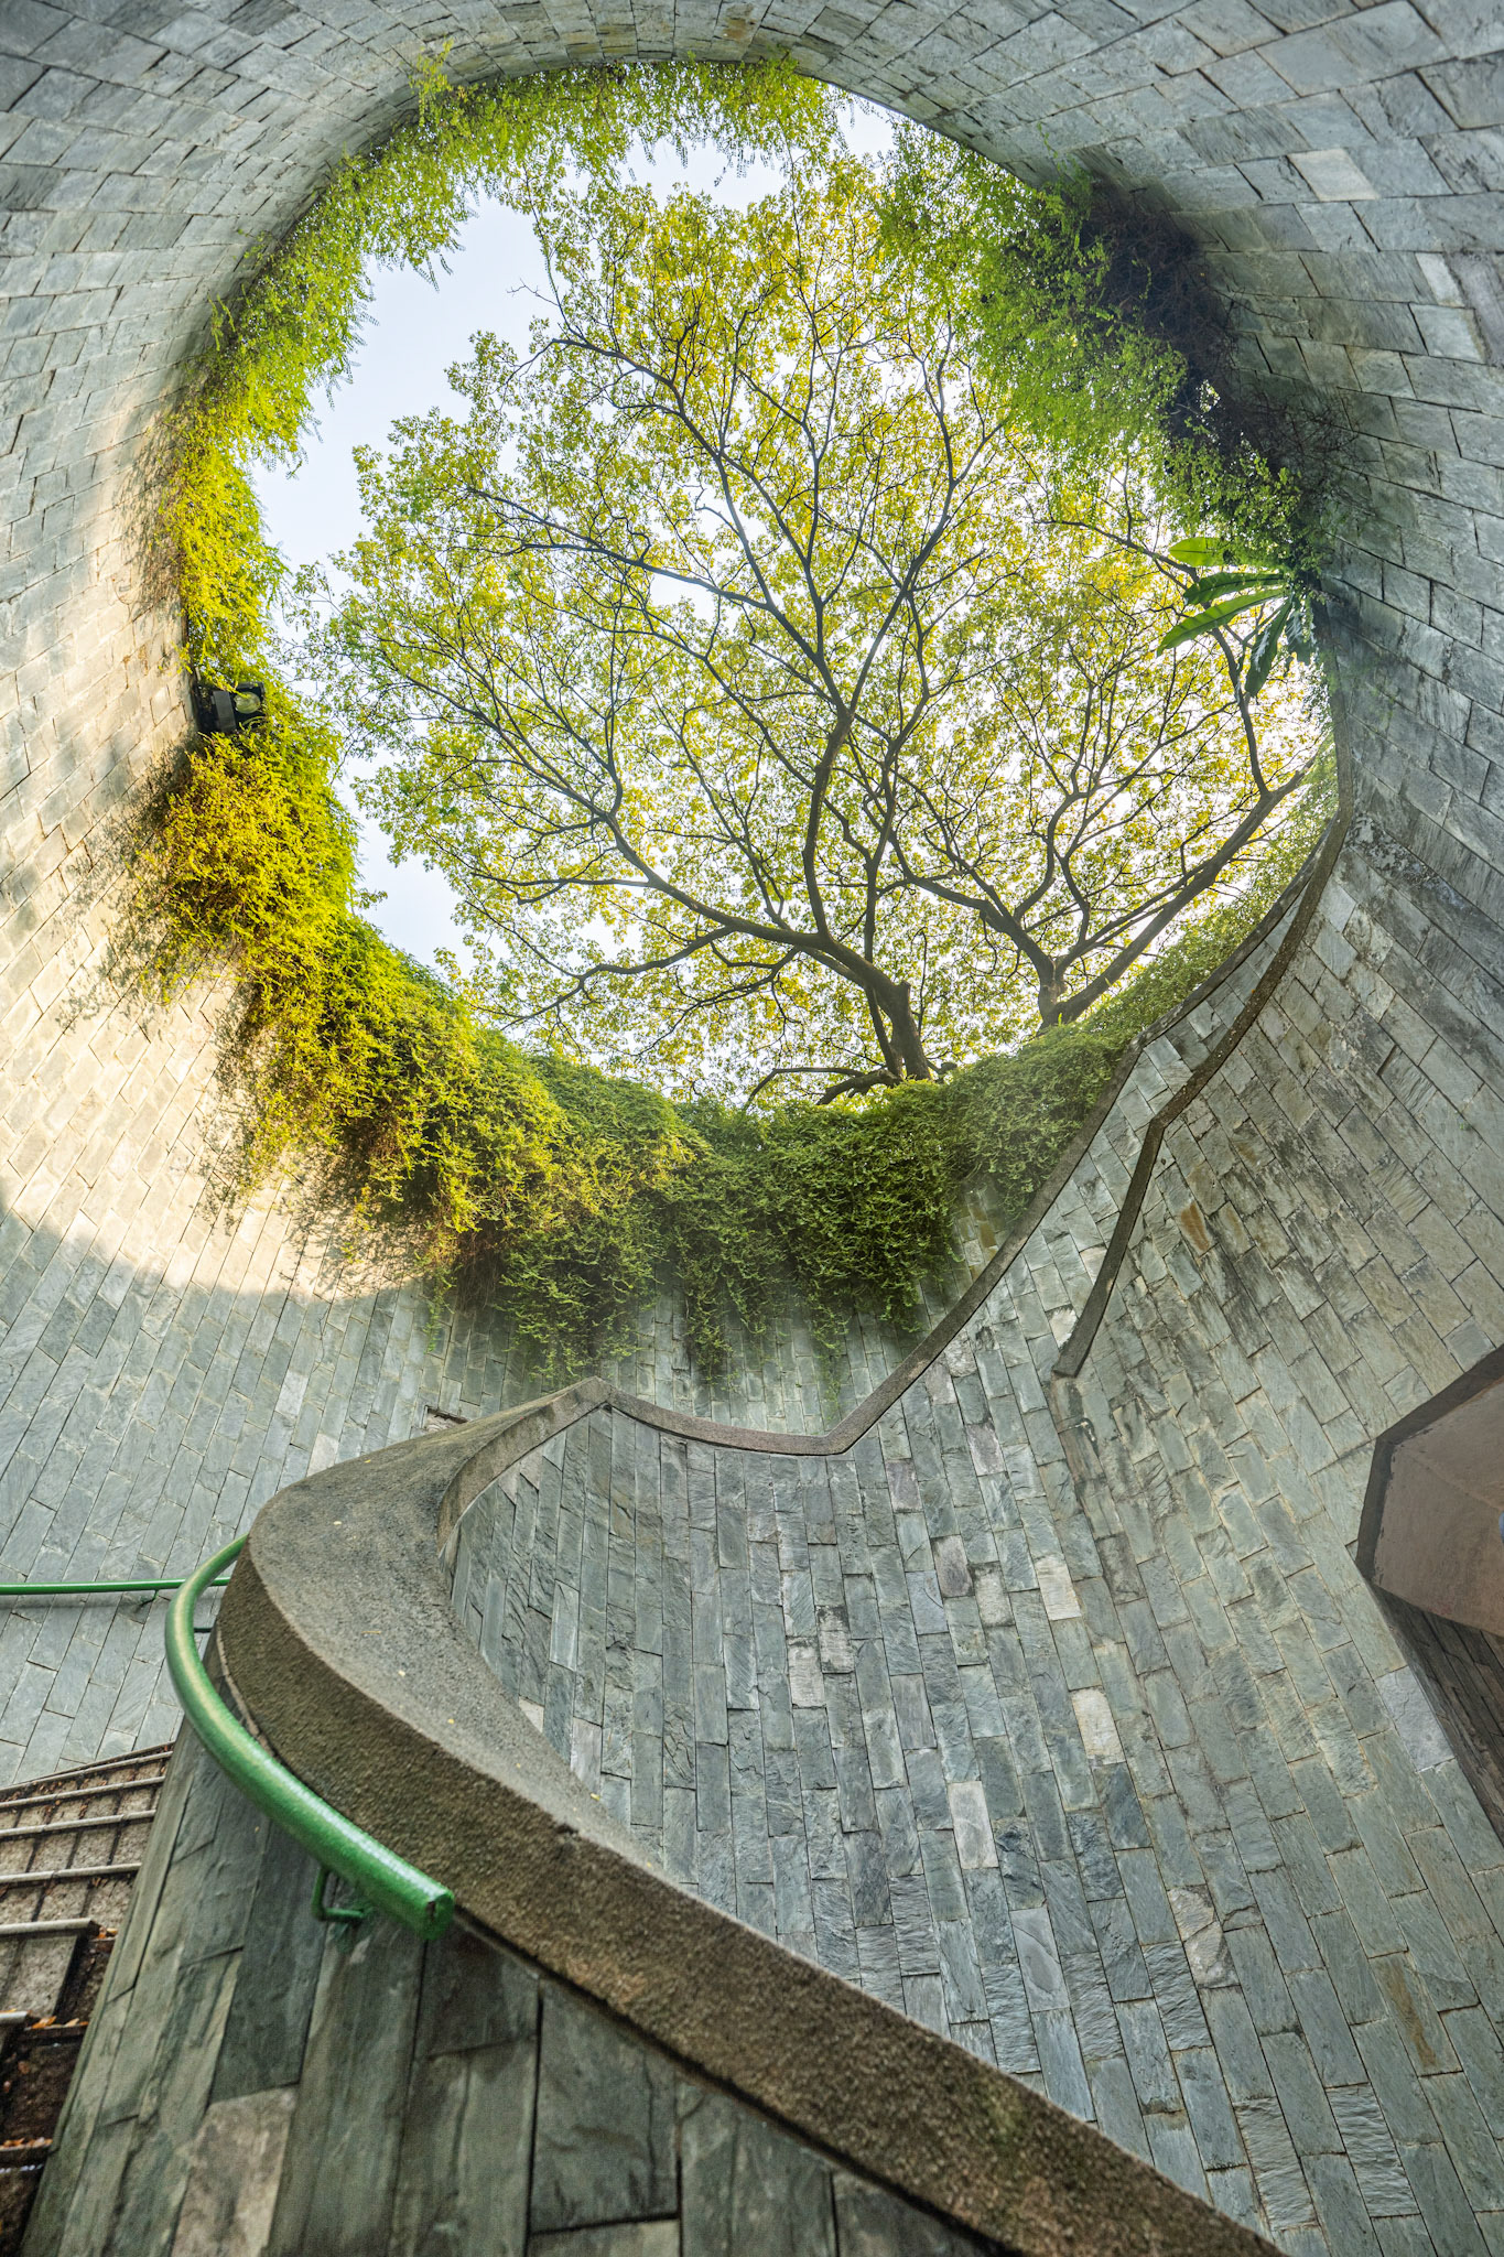
{"type": "Polygon", "coordinates": [[[372,269],[442,266],[480,194],[519,196],[568,167],[611,178],[634,135],[713,140],[733,160],[819,153],[823,88],[785,63],[604,68],[449,86],[431,65],[417,115],[377,151],[347,156],[318,203],[264,260],[214,334],[158,445],[158,530],[189,623],[194,664],[232,682],[264,655],[284,564],[266,542],[250,474],[295,465],[313,395],[350,377],[372,269]]]}

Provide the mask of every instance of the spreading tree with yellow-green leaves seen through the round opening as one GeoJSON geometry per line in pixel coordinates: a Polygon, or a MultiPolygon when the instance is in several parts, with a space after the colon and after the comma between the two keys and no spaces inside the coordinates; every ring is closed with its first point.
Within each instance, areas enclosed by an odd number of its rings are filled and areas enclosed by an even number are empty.
{"type": "Polygon", "coordinates": [[[523,359],[359,460],[316,636],[514,1027],[679,1090],[934,1079],[1089,1009],[1299,790],[1132,472],[1062,524],[850,160],[550,190],[523,359]]]}

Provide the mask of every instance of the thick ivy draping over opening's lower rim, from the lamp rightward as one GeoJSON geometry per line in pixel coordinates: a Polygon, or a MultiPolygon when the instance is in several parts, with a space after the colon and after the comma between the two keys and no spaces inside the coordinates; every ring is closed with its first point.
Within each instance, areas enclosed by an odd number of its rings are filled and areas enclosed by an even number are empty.
{"type": "MultiPolygon", "coordinates": [[[[244,738],[201,738],[156,808],[138,892],[167,946],[162,993],[223,966],[241,995],[244,1180],[311,1156],[354,1228],[485,1293],[561,1379],[627,1343],[672,1277],[695,1361],[789,1289],[834,1354],[852,1314],[906,1327],[947,1255],[961,1187],[1003,1219],[1039,1189],[1123,1045],[1215,968],[1288,876],[1150,966],[1096,1016],[947,1083],[855,1108],[672,1106],[631,1081],[528,1056],[354,914],[331,745],[277,695],[244,738]]],[[[1290,844],[1299,853],[1303,840],[1290,844]]]]}

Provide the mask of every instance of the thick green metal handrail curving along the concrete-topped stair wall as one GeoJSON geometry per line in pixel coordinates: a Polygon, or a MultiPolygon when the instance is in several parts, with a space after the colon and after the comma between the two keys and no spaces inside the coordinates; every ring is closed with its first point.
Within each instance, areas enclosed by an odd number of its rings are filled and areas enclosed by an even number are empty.
{"type": "Polygon", "coordinates": [[[368,1912],[386,1912],[401,1921],[415,1937],[433,1941],[453,1921],[453,1891],[440,1887],[428,1873],[395,1851],[374,1842],[347,1817],[331,1810],[311,1788],[304,1788],[275,1756],[268,1756],[244,1724],[239,1724],[210,1681],[210,1672],[198,1659],[194,1636],[194,1602],[201,1591],[228,1569],[246,1537],[225,1544],[221,1553],[205,1560],[189,1575],[167,1609],[167,1668],[178,1688],[183,1711],[203,1740],[214,1763],[268,1819],[300,1842],[318,1860],[320,1878],[313,1891],[320,1918],[350,1921],[365,1918],[368,1912]],[[343,1909],[322,1903],[327,1873],[338,1873],[356,1891],[359,1903],[343,1909]]]}

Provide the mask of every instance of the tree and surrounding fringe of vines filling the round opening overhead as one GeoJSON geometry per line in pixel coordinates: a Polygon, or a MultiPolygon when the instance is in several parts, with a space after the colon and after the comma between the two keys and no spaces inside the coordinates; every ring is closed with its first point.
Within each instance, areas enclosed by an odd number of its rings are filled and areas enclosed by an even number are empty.
{"type": "Polygon", "coordinates": [[[266,666],[264,727],[189,749],[138,864],[158,973],[241,975],[246,1174],[313,1156],[555,1370],[665,1271],[706,1365],[789,1277],[825,1345],[911,1323],[963,1185],[1026,1205],[1326,815],[1292,688],[1319,512],[1231,415],[1186,257],[915,131],[864,167],[782,68],[426,86],[345,165],[165,478],[198,666],[266,666]],[[785,185],[656,203],[620,178],[654,133],[785,185]],[[442,257],[478,187],[539,226],[552,334],[480,341],[465,413],[365,463],[370,537],[302,591],[309,695],[266,664],[250,472],[350,370],[363,260],[442,257]],[[365,914],[352,743],[469,964],[365,914]]]}

